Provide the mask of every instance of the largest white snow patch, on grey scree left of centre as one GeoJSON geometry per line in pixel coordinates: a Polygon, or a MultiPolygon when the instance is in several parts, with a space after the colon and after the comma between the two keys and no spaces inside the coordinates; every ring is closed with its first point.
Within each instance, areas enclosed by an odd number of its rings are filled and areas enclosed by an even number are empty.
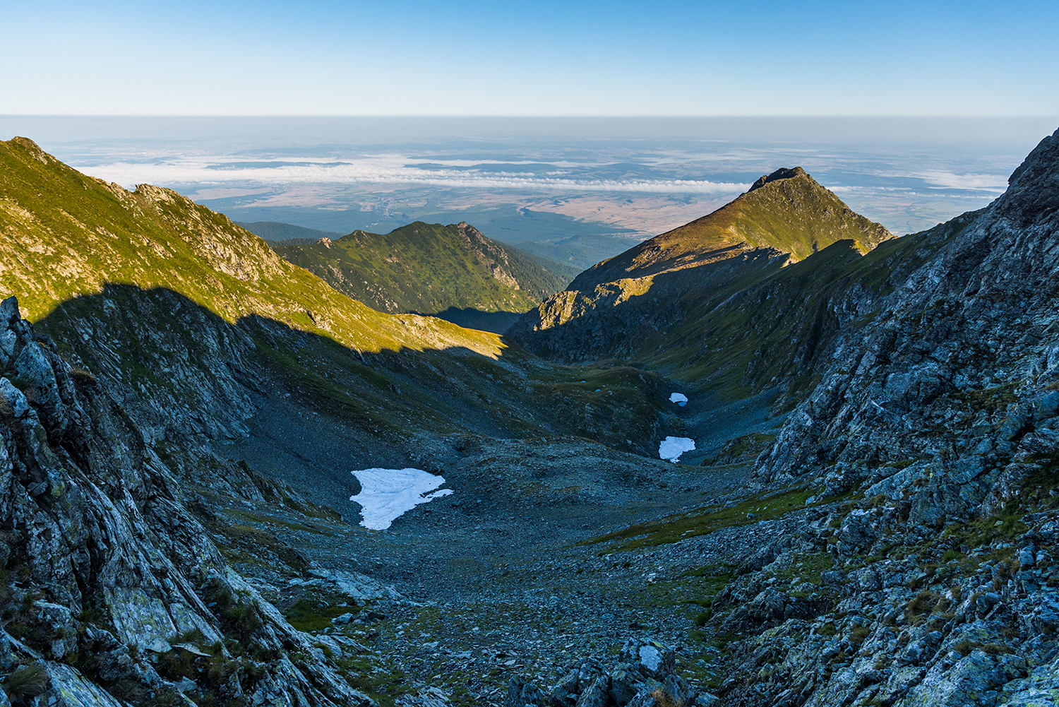
{"type": "Polygon", "coordinates": [[[421,469],[365,469],[351,474],[360,481],[360,493],[349,500],[360,503],[364,518],[360,525],[372,530],[385,530],[405,511],[452,493],[451,489],[434,491],[445,477],[421,469]]]}

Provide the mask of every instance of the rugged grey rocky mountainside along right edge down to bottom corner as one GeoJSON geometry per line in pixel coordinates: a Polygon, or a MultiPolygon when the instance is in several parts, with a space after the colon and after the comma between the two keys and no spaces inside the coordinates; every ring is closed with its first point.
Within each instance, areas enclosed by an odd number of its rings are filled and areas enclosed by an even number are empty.
{"type": "Polygon", "coordinates": [[[1055,700],[1059,131],[936,230],[757,459],[762,482],[854,500],[714,601],[741,638],[724,704],[1055,700]]]}

